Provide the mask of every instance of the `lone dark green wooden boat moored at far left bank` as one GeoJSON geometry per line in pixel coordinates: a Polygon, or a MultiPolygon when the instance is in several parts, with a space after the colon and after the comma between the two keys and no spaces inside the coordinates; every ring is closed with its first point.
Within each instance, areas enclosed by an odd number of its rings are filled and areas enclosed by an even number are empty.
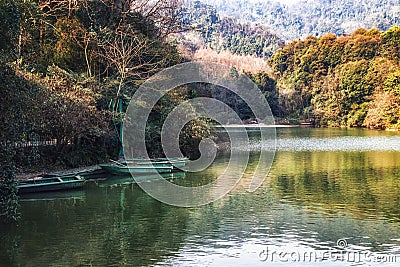
{"type": "Polygon", "coordinates": [[[81,188],[85,180],[80,176],[37,177],[20,181],[17,185],[19,194],[70,190],[81,188]]]}

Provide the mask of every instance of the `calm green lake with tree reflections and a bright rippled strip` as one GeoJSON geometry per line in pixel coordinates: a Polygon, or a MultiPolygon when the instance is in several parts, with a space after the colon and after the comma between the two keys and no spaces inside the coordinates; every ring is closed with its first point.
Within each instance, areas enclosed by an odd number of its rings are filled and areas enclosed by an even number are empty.
{"type": "MultiPolygon", "coordinates": [[[[251,138],[249,150],[268,146],[251,138]]],[[[162,204],[129,178],[21,201],[0,266],[399,266],[400,135],[278,128],[261,188],[198,208],[162,204]]],[[[174,182],[200,185],[219,157],[174,182]]],[[[251,153],[249,168],[257,164],[251,153]]]]}

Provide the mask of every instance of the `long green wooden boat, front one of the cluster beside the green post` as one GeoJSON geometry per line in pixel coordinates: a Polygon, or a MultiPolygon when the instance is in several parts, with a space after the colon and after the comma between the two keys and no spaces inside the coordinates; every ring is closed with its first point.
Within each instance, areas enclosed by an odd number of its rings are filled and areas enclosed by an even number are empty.
{"type": "Polygon", "coordinates": [[[149,165],[137,165],[132,166],[130,163],[112,162],[106,164],[99,164],[99,166],[114,175],[129,175],[130,173],[136,175],[146,175],[155,172],[158,173],[169,173],[172,171],[172,166],[149,166],[149,165]],[[129,166],[128,166],[129,165],[129,166]]]}

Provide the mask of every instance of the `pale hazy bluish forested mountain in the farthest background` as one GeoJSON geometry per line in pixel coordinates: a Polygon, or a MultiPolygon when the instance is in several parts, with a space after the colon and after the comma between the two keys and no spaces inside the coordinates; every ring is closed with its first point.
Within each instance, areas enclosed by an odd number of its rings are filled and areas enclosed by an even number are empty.
{"type": "Polygon", "coordinates": [[[399,0],[299,0],[294,5],[279,0],[203,0],[222,16],[269,27],[287,41],[308,35],[351,34],[358,28],[386,31],[400,24],[399,0]]]}

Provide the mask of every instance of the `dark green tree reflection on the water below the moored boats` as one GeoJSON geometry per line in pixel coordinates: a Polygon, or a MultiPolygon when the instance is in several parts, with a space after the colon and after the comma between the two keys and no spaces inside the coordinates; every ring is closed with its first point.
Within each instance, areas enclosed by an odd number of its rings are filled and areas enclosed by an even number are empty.
{"type": "Polygon", "coordinates": [[[154,264],[179,250],[188,219],[187,210],[137,185],[89,188],[84,200],[24,203],[22,214],[19,226],[1,233],[0,260],[10,266],[154,264]]]}

